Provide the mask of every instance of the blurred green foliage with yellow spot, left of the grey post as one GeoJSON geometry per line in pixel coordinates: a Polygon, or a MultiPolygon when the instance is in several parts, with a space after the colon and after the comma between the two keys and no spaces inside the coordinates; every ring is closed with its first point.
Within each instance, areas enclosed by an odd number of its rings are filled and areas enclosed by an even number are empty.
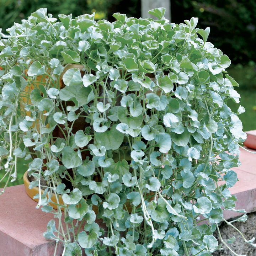
{"type": "Polygon", "coordinates": [[[39,8],[58,18],[59,14],[73,14],[73,17],[95,12],[95,20],[113,20],[114,12],[128,17],[140,16],[139,0],[0,0],[0,28],[5,32],[14,22],[20,23],[39,8]]]}

